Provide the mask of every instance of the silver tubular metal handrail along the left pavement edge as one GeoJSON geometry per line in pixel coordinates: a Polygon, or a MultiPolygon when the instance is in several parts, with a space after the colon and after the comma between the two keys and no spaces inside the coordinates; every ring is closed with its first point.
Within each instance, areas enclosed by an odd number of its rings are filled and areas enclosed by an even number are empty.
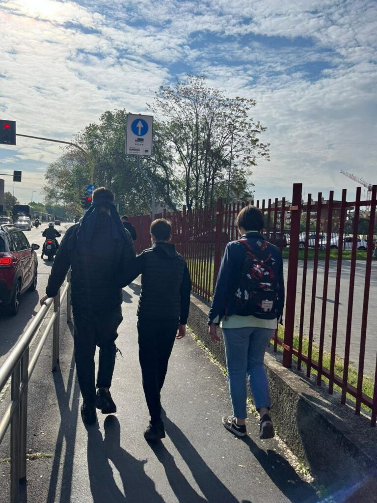
{"type": "Polygon", "coordinates": [[[70,271],[63,291],[55,299],[47,299],[30,323],[21,339],[16,343],[6,361],[0,367],[0,392],[11,377],[11,402],[0,420],[0,444],[11,425],[11,503],[19,503],[20,481],[26,480],[26,435],[28,415],[28,384],[38,358],[53,327],[52,371],[59,362],[60,305],[67,297],[67,322],[71,320],[70,271]],[[29,348],[51,306],[54,311],[43,330],[34,354],[29,362],[29,348]]]}

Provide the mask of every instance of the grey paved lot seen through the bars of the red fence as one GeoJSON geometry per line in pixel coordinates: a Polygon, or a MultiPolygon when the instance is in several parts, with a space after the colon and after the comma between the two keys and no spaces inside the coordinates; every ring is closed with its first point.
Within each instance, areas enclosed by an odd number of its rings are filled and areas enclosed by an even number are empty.
{"type": "MultiPolygon", "coordinates": [[[[305,312],[304,312],[304,334],[309,335],[310,328],[310,312],[312,305],[312,285],[313,285],[313,261],[308,262],[307,282],[305,291],[305,312]]],[[[336,354],[344,358],[346,325],[348,312],[348,297],[349,297],[349,277],[350,277],[350,261],[343,261],[341,282],[340,282],[340,298],[339,298],[339,316],[337,322],[337,338],[336,338],[336,354]]],[[[287,284],[288,261],[285,261],[285,279],[287,284]]],[[[315,297],[315,316],[313,325],[313,340],[319,344],[321,331],[321,314],[323,304],[323,284],[325,277],[325,263],[319,262],[317,270],[317,288],[314,294],[315,297]]],[[[295,332],[299,333],[300,313],[301,313],[301,298],[302,298],[302,278],[303,278],[303,261],[299,261],[298,281],[297,281],[297,297],[296,297],[296,318],[295,332]]],[[[328,274],[328,293],[326,302],[326,322],[325,322],[325,339],[324,348],[327,351],[331,350],[333,316],[335,305],[335,281],[336,281],[336,261],[330,261],[328,274]]],[[[360,332],[362,322],[362,306],[364,299],[365,286],[365,262],[356,262],[355,285],[353,295],[352,309],[352,325],[351,325],[351,343],[350,343],[350,361],[354,368],[358,368],[359,351],[360,351],[360,332]]],[[[370,292],[369,292],[369,309],[367,317],[366,330],[366,347],[365,347],[365,366],[364,374],[373,373],[376,365],[377,355],[377,262],[372,262],[370,292]]]]}

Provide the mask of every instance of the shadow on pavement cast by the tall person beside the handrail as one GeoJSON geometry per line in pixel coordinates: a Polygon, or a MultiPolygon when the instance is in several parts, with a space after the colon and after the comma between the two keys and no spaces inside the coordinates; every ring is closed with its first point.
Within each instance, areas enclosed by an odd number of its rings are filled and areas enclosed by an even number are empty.
{"type": "Polygon", "coordinates": [[[104,427],[104,439],[97,428],[88,428],[87,464],[93,503],[164,503],[144,471],[147,461],[134,458],[120,446],[118,419],[114,415],[107,416],[104,427]],[[116,484],[109,460],[119,471],[124,493],[116,484]]]}

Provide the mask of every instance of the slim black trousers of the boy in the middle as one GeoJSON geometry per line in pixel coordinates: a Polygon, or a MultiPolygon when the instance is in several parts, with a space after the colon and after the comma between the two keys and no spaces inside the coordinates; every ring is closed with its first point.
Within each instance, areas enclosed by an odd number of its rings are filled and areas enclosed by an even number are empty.
{"type": "Polygon", "coordinates": [[[152,424],[161,420],[160,391],[173,349],[178,320],[139,319],[139,361],[143,388],[152,424]]]}

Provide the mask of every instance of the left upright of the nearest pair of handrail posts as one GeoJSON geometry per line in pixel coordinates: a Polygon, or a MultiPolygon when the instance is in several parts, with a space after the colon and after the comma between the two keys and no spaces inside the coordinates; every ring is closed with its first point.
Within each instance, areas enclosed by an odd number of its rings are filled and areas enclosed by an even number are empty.
{"type": "Polygon", "coordinates": [[[19,361],[11,384],[11,403],[15,404],[11,418],[11,503],[19,503],[20,499],[20,369],[19,361]]]}

